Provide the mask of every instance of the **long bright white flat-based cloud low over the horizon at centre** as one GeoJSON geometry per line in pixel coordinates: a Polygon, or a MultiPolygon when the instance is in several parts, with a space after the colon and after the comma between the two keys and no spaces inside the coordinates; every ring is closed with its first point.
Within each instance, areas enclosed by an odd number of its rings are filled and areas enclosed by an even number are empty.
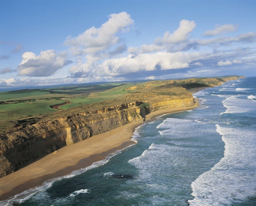
{"type": "Polygon", "coordinates": [[[189,63],[197,58],[200,58],[198,52],[157,52],[128,55],[122,58],[107,59],[102,64],[80,63],[73,66],[70,73],[73,77],[117,76],[136,72],[182,69],[189,67],[189,63]]]}

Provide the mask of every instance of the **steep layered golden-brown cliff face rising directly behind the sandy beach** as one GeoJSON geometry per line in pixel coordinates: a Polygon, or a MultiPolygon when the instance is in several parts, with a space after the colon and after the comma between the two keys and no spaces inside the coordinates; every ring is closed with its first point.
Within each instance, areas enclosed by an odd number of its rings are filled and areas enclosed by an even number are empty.
{"type": "MultiPolygon", "coordinates": [[[[0,148],[0,177],[10,174],[65,145],[105,133],[130,122],[143,122],[152,111],[194,105],[192,95],[181,99],[152,99],[148,107],[142,102],[125,103],[93,112],[70,115],[51,121],[17,125],[4,133],[0,148]]],[[[32,121],[33,122],[33,121],[32,121]]]]}

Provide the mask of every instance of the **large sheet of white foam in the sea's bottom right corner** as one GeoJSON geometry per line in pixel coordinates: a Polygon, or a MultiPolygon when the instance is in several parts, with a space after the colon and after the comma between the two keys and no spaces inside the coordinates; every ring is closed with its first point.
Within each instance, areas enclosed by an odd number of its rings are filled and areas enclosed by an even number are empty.
{"type": "Polygon", "coordinates": [[[241,203],[255,190],[256,150],[253,145],[256,137],[253,132],[220,125],[216,125],[216,131],[225,142],[224,157],[192,183],[195,198],[189,200],[190,206],[241,203]]]}

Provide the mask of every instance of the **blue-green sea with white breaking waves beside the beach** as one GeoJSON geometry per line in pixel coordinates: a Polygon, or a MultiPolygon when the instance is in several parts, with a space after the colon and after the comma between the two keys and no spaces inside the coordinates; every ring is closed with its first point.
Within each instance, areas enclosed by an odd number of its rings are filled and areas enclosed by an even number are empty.
{"type": "Polygon", "coordinates": [[[255,206],[256,77],[194,96],[200,107],[138,127],[137,144],[0,205],[255,206]]]}

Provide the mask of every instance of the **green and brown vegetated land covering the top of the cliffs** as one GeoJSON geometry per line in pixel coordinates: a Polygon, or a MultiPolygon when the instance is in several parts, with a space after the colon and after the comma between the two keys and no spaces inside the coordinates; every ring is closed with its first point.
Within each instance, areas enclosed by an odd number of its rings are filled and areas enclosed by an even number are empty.
{"type": "Polygon", "coordinates": [[[14,122],[26,119],[54,119],[135,101],[142,102],[142,108],[148,107],[160,96],[182,98],[189,93],[187,89],[212,87],[232,77],[114,82],[0,92],[0,133],[8,131],[14,122]],[[64,104],[67,101],[70,103],[64,104]],[[62,110],[51,107],[58,104],[64,104],[59,107],[62,110]]]}

